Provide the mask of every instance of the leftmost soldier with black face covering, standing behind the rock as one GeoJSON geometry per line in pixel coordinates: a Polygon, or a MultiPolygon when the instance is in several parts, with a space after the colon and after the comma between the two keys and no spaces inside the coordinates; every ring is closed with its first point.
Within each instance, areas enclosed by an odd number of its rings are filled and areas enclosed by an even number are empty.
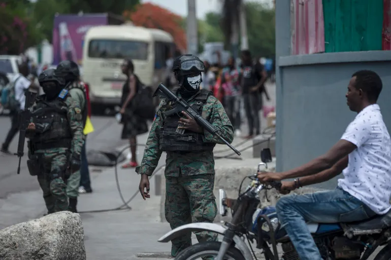
{"type": "Polygon", "coordinates": [[[48,214],[68,210],[66,181],[80,169],[84,143],[81,108],[68,91],[63,79],[47,69],[38,78],[44,95],[31,107],[31,120],[26,131],[27,166],[37,175],[48,214]]]}

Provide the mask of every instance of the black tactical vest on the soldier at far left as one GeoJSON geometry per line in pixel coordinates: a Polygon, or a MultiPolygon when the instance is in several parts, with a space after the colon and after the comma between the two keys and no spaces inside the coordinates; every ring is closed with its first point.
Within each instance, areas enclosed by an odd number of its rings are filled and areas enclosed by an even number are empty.
{"type": "Polygon", "coordinates": [[[44,95],[37,98],[31,117],[36,126],[36,134],[30,139],[32,150],[50,148],[71,148],[72,133],[68,122],[68,105],[64,98],[57,97],[46,101],[44,95]]]}

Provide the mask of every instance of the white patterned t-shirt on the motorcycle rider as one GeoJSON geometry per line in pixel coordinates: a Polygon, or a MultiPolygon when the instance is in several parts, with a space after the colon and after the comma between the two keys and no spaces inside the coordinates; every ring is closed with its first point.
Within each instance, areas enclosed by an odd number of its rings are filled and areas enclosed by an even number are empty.
{"type": "Polygon", "coordinates": [[[341,139],[357,146],[338,186],[377,214],[391,209],[391,141],[378,104],[365,107],[341,139]]]}

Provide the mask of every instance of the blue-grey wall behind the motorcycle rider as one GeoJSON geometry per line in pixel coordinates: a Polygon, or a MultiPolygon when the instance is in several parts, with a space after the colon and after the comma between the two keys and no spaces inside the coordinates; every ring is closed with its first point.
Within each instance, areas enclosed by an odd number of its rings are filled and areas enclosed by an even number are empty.
{"type": "MultiPolygon", "coordinates": [[[[391,51],[289,56],[289,1],[276,2],[277,171],[307,163],[339,140],[356,115],[345,98],[356,70],[371,69],[381,77],[378,103],[391,129],[391,51]]],[[[337,178],[315,187],[332,189],[337,178]]]]}

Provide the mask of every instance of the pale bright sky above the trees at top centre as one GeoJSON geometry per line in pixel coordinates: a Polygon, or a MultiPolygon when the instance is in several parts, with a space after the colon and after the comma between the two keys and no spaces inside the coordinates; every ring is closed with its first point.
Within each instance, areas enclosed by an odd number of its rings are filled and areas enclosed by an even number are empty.
{"type": "MultiPolygon", "coordinates": [[[[142,0],[141,2],[149,2],[180,16],[187,16],[187,0],[142,0]]],[[[245,0],[245,2],[272,3],[272,0],[245,0]]],[[[196,12],[199,19],[204,19],[206,13],[220,12],[220,8],[220,0],[196,0],[196,12]]]]}

